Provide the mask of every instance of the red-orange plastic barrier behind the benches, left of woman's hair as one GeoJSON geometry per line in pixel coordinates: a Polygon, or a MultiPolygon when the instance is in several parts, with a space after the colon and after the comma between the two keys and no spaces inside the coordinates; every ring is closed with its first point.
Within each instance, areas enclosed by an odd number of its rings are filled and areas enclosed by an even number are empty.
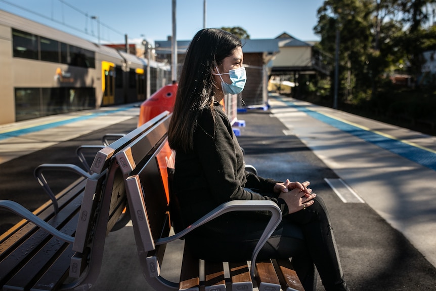
{"type": "Polygon", "coordinates": [[[165,110],[172,112],[176,100],[177,84],[166,85],[141,104],[138,127],[165,110]]]}

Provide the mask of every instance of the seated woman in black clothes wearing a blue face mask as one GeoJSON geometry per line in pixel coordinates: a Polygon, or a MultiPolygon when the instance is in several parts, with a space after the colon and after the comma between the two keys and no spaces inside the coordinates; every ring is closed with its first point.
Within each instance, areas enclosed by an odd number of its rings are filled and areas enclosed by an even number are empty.
{"type": "MultiPolygon", "coordinates": [[[[316,270],[326,290],[347,290],[327,211],[309,182],[280,182],[244,170],[243,153],[220,105],[225,94],[244,88],[242,62],[241,41],[220,29],[200,30],[188,48],[168,131],[177,152],[173,187],[183,224],[229,200],[272,200],[284,217],[258,259],[292,257],[307,291],[315,289],[316,270]]],[[[192,231],[186,243],[201,259],[250,260],[268,220],[263,212],[228,213],[192,231]]]]}

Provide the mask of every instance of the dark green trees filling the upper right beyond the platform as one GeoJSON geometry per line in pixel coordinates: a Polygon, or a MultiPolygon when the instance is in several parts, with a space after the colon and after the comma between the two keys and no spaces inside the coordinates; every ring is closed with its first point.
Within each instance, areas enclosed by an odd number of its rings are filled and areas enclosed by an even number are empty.
{"type": "MultiPolygon", "coordinates": [[[[436,0],[324,1],[314,27],[321,37],[315,50],[334,56],[339,30],[339,107],[434,127],[436,75],[423,74],[421,68],[423,52],[436,50],[436,26],[429,23],[435,9],[436,0]],[[394,84],[396,74],[409,75],[412,87],[394,84]]],[[[312,94],[315,88],[316,95],[330,102],[335,59],[323,62],[331,74],[303,89],[312,94]]]]}

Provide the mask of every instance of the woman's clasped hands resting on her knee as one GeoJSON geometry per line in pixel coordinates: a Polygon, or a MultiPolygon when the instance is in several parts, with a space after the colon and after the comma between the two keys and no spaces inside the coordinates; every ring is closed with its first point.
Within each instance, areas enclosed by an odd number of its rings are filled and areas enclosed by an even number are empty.
{"type": "Polygon", "coordinates": [[[277,183],[274,186],[274,192],[280,193],[279,198],[285,200],[288,205],[288,213],[294,213],[306,207],[311,206],[315,201],[313,198],[317,194],[312,193],[312,189],[308,188],[309,181],[290,182],[288,179],[284,183],[277,183]]]}

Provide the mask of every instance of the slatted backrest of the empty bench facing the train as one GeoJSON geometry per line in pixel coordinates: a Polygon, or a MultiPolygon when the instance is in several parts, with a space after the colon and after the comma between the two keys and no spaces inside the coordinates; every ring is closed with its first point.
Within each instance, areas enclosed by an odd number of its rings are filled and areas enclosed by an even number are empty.
{"type": "MultiPolygon", "coordinates": [[[[77,253],[71,259],[70,267],[70,276],[78,278],[86,264],[89,264],[86,279],[80,281],[80,284],[95,282],[101,269],[106,235],[123,215],[129,214],[126,213],[125,190],[125,178],[129,171],[121,171],[117,155],[125,156],[126,152],[132,152],[138,145],[149,144],[150,148],[154,148],[155,143],[159,144],[166,135],[166,130],[162,131],[160,124],[167,124],[167,120],[168,112],[164,112],[143,124],[140,129],[100,150],[96,155],[93,166],[104,167],[98,170],[93,167],[93,171],[101,173],[95,172],[86,182],[73,244],[73,251],[77,253]],[[95,212],[96,209],[100,211],[95,212]],[[91,250],[90,255],[87,254],[88,250],[91,250]]],[[[141,153],[144,152],[143,159],[146,160],[151,155],[147,156],[146,150],[142,149],[141,153]]]]}

